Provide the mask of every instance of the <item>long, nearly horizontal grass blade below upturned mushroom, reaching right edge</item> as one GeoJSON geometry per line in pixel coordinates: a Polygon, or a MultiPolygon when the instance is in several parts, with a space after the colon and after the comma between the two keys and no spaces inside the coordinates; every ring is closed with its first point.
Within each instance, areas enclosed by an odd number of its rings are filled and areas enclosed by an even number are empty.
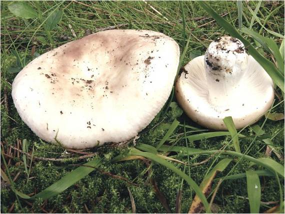
{"type": "Polygon", "coordinates": [[[254,158],[252,156],[246,155],[246,154],[242,154],[236,151],[228,151],[228,150],[202,150],[202,151],[196,151],[194,152],[193,150],[191,150],[192,148],[187,148],[187,147],[183,147],[183,146],[166,146],[163,145],[161,146],[158,150],[161,151],[175,151],[175,152],[179,152],[179,155],[184,154],[229,154],[235,157],[239,157],[239,158],[243,158],[246,159],[248,161],[251,161],[257,165],[261,165],[264,168],[267,168],[268,170],[270,170],[271,172],[275,173],[275,171],[278,173],[278,175],[280,175],[281,177],[284,177],[284,166],[281,165],[280,163],[276,162],[273,159],[270,158],[266,158],[266,157],[262,157],[262,158],[254,158]],[[187,153],[187,150],[188,153],[187,153]]]}

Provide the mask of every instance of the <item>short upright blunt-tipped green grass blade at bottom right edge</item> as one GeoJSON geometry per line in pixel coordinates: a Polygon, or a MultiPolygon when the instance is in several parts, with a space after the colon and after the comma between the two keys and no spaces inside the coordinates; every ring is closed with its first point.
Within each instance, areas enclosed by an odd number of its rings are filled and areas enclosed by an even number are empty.
{"type": "Polygon", "coordinates": [[[258,174],[253,170],[245,173],[250,213],[259,213],[261,189],[258,174]]]}

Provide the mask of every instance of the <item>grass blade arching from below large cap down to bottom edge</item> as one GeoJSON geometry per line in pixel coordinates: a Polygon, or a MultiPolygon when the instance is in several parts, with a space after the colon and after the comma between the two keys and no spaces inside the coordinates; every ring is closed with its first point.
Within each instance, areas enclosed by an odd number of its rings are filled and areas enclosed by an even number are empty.
{"type": "Polygon", "coordinates": [[[195,191],[195,193],[199,196],[200,200],[202,201],[204,207],[206,209],[208,209],[209,204],[207,202],[207,199],[205,197],[205,195],[202,193],[201,189],[199,188],[199,186],[197,185],[197,183],[195,183],[195,181],[189,177],[188,175],[186,175],[184,172],[182,172],[180,169],[176,168],[174,165],[172,165],[170,162],[168,162],[165,159],[162,159],[160,157],[158,157],[157,155],[150,153],[150,152],[143,152],[143,151],[138,151],[138,150],[131,150],[130,155],[139,155],[139,156],[143,156],[146,157],[148,159],[151,159],[167,168],[169,168],[170,170],[172,170],[173,172],[175,172],[176,174],[178,174],[180,177],[182,177],[195,191]]]}

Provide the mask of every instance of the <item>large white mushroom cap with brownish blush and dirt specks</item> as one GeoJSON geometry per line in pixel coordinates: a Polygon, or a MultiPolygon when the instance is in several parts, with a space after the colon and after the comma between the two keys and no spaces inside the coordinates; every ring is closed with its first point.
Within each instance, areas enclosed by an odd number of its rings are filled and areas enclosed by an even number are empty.
{"type": "Polygon", "coordinates": [[[163,33],[106,30],[35,58],[15,77],[12,97],[22,120],[48,142],[120,142],[161,109],[178,61],[177,43],[163,33]]]}

